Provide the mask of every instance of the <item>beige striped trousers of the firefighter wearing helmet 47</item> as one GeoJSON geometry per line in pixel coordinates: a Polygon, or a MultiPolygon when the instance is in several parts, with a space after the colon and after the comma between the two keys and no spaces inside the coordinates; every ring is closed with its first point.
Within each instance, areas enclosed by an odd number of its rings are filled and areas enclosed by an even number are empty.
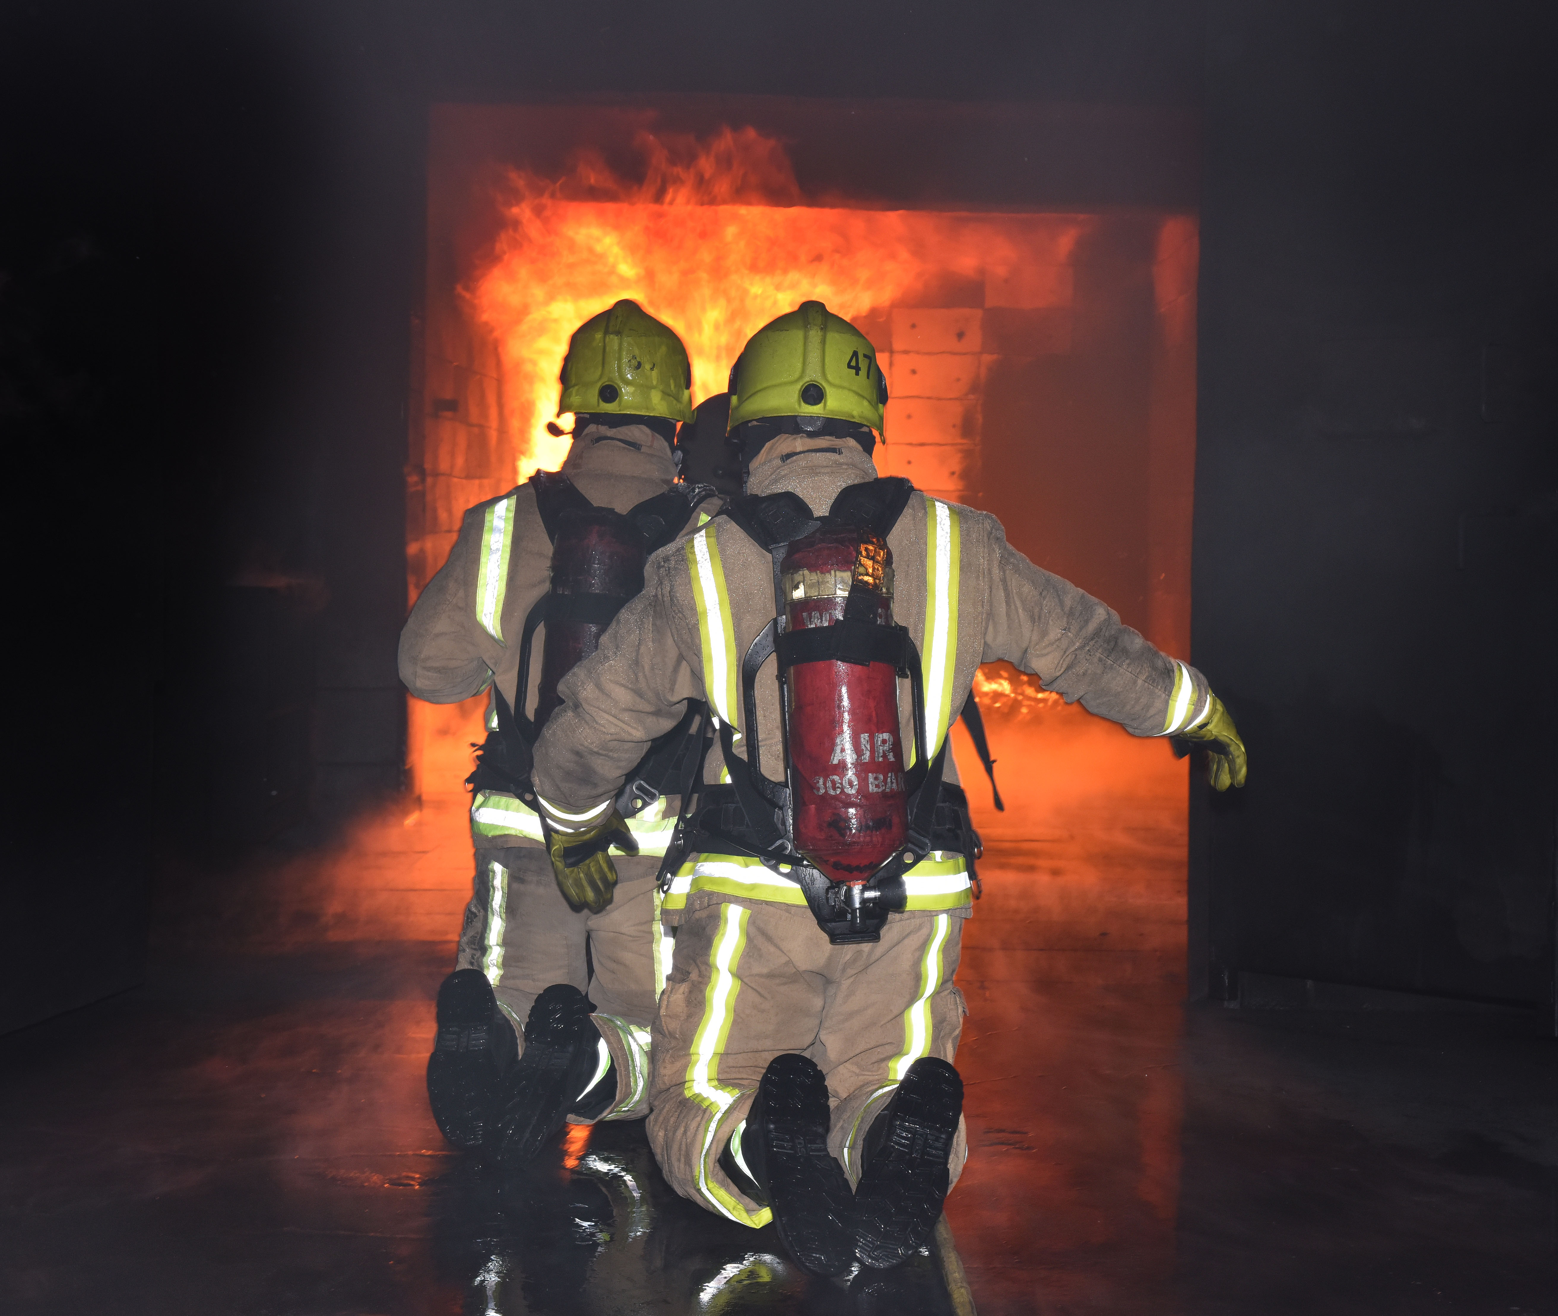
{"type": "MultiPolygon", "coordinates": [[[[963,994],[952,984],[966,910],[893,914],[882,939],[832,945],[804,906],[695,892],[675,911],[676,945],[653,1033],[648,1134],[684,1198],[760,1227],[770,1210],[718,1166],[768,1062],[799,1051],[827,1076],[829,1151],[849,1182],[860,1145],[922,1056],[952,1061],[963,994]]],[[[952,1179],[968,1159],[960,1123],[952,1179]]]]}

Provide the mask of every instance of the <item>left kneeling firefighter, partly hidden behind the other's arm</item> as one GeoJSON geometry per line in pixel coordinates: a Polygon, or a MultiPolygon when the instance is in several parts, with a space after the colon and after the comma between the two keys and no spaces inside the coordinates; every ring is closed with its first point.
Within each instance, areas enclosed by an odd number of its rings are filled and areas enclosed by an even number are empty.
{"type": "Polygon", "coordinates": [[[438,994],[427,1093],[452,1143],[486,1146],[509,1166],[569,1117],[648,1110],[650,1023],[667,967],[654,878],[676,822],[668,788],[700,744],[700,709],[623,774],[620,883],[553,875],[530,748],[558,707],[558,681],[642,589],[648,554],[714,492],[675,483],[690,383],[681,340],[634,302],[583,324],[558,403],[575,414],[567,461],[466,512],[400,634],[400,679],[418,698],[449,704],[491,687],[488,740],[467,779],[475,891],[438,994]]]}

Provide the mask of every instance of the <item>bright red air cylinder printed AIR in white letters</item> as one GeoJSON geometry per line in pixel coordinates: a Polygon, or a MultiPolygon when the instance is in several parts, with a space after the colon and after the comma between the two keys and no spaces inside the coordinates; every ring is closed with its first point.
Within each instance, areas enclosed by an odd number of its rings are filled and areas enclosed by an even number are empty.
{"type": "MultiPolygon", "coordinates": [[[[785,626],[832,626],[855,579],[893,625],[893,553],[874,534],[820,530],[779,567],[785,626]]],[[[904,844],[908,799],[891,663],[796,663],[787,674],[795,844],[832,881],[863,883],[904,844]]]]}

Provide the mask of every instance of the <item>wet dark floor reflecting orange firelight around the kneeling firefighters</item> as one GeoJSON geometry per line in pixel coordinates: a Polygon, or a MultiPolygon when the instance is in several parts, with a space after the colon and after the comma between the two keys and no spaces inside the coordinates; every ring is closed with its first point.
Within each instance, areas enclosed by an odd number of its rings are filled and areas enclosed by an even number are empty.
{"type": "MultiPolygon", "coordinates": [[[[1184,1006],[1184,765],[1042,718],[1050,766],[982,805],[958,975],[977,1310],[1558,1313],[1558,1045],[1521,1012],[1184,1006]]],[[[675,1198],[639,1126],[509,1184],[444,1146],[458,808],[170,872],[143,987],[0,1039],[0,1310],[958,1311],[935,1255],[807,1280],[675,1198]]]]}

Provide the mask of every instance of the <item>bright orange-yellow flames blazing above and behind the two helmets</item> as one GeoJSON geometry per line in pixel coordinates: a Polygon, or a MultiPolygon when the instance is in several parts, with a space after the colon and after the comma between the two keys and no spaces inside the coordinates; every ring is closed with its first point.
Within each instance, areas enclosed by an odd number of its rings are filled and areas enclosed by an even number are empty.
{"type": "Polygon", "coordinates": [[[545,424],[569,336],[620,297],[681,335],[696,402],[724,389],[756,330],[802,301],[858,319],[930,273],[982,277],[1017,260],[1010,245],[958,241],[952,216],[801,206],[782,145],[753,128],[701,145],[640,132],[636,145],[637,182],[595,153],[556,181],[511,170],[505,227],[461,288],[499,344],[519,480],[567,455],[569,438],[545,424]]]}

